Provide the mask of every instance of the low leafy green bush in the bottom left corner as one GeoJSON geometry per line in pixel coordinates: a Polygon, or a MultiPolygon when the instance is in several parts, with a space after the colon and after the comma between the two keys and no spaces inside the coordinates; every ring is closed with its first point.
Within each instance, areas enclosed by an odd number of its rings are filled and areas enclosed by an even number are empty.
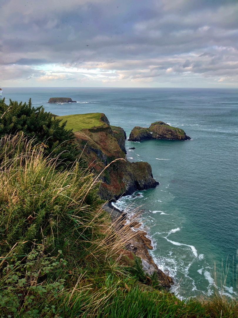
{"type": "MultiPolygon", "coordinates": [[[[59,275],[52,282],[45,282],[44,277],[62,270],[66,262],[59,257],[62,251],[58,251],[56,257],[45,254],[45,246],[38,245],[19,260],[16,253],[4,258],[8,266],[3,268],[0,277],[0,308],[1,317],[40,317],[36,308],[44,303],[45,297],[57,297],[57,293],[63,289],[64,279],[59,275]],[[7,262],[10,259],[10,264],[7,262]],[[35,308],[35,309],[34,309],[35,308]],[[3,316],[4,315],[4,316],[3,316]]],[[[42,306],[41,312],[49,311],[47,304],[42,306]]]]}

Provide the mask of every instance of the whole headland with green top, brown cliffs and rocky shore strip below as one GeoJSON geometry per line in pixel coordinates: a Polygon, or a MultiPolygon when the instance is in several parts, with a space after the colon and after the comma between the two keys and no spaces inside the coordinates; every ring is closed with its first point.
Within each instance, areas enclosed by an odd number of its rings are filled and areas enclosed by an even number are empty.
{"type": "MultiPolygon", "coordinates": [[[[122,195],[130,195],[136,190],[155,188],[159,183],[152,175],[151,166],[148,162],[129,162],[126,158],[125,139],[126,133],[123,128],[112,126],[103,113],[75,114],[59,116],[58,119],[67,120],[66,128],[73,129],[76,143],[82,150],[81,157],[87,162],[100,181],[100,196],[102,199],[116,202],[122,195]],[[115,159],[123,159],[113,162],[115,159]],[[111,164],[110,164],[111,163],[111,164]],[[108,166],[106,168],[106,166],[108,166]],[[106,168],[106,169],[105,169],[106,168]]],[[[169,289],[173,280],[160,270],[148,249],[153,249],[147,233],[140,230],[141,224],[131,220],[125,224],[126,213],[116,209],[110,202],[103,206],[115,224],[124,228],[125,235],[131,235],[127,250],[134,253],[142,261],[142,267],[147,275],[154,272],[158,274],[161,286],[169,289]],[[133,230],[132,230],[133,228],[133,230]]]]}

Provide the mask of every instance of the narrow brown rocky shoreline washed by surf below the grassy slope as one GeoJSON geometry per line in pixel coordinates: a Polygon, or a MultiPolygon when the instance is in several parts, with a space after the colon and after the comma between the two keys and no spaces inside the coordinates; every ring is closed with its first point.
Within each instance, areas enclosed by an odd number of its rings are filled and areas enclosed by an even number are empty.
{"type": "MultiPolygon", "coordinates": [[[[117,223],[119,228],[125,226],[125,219],[127,214],[123,210],[119,210],[112,205],[111,202],[107,202],[102,206],[102,209],[109,213],[112,222],[117,223]]],[[[169,275],[166,275],[158,266],[155,264],[153,258],[149,254],[149,249],[152,250],[151,240],[146,237],[147,233],[140,230],[141,223],[135,220],[130,220],[126,231],[131,231],[134,235],[129,239],[129,243],[126,245],[126,249],[136,256],[140,257],[142,261],[143,271],[152,275],[154,272],[158,274],[158,280],[162,287],[168,290],[172,285],[174,285],[174,280],[169,275]],[[137,233],[137,235],[135,235],[137,233]]]]}

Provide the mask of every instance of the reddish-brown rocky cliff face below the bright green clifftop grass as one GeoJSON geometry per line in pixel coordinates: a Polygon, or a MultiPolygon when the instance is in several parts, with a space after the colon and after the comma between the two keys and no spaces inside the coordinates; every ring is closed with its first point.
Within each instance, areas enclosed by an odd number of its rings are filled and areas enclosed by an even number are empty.
{"type": "MultiPolygon", "coordinates": [[[[102,114],[102,119],[106,122],[104,116],[102,114]]],[[[153,178],[148,162],[127,161],[126,134],[121,127],[107,124],[85,128],[75,132],[75,136],[76,142],[83,151],[83,159],[97,175],[113,160],[124,159],[112,163],[100,176],[102,198],[115,201],[122,194],[129,195],[136,190],[155,188],[158,184],[153,178]]]]}

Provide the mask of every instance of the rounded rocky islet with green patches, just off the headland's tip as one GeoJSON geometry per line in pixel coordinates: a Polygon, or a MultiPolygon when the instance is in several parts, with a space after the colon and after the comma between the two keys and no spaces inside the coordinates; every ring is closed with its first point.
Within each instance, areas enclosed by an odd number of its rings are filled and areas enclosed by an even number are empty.
{"type": "Polygon", "coordinates": [[[189,140],[183,129],[169,126],[163,121],[153,122],[149,128],[136,126],[132,129],[128,141],[147,139],[189,140]]]}

